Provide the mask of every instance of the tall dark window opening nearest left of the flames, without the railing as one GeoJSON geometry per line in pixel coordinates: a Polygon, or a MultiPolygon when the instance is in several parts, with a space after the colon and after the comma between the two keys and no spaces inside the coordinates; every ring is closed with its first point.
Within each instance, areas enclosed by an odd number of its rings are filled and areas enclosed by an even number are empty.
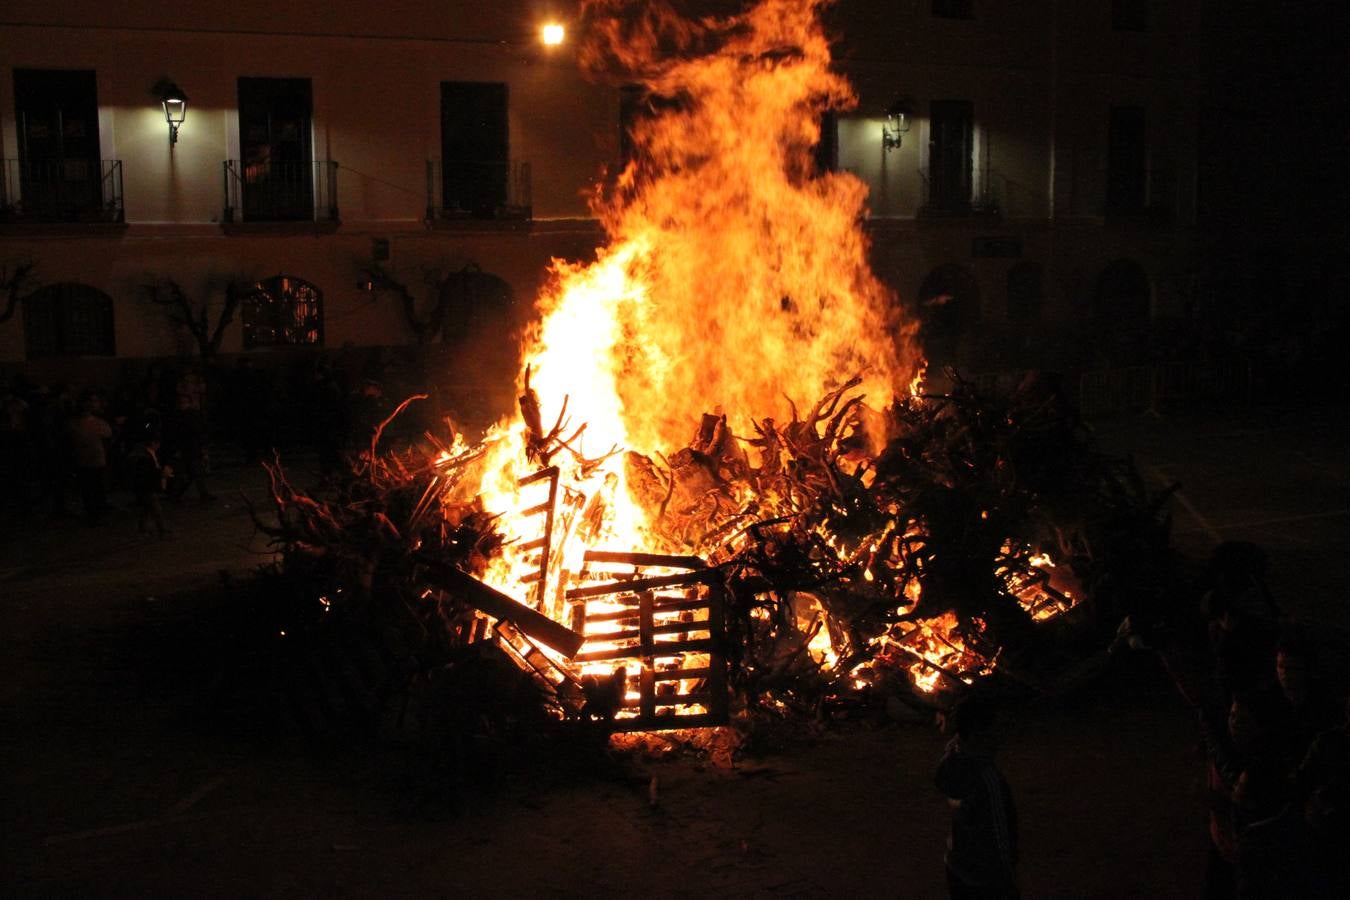
{"type": "Polygon", "coordinates": [[[508,202],[510,135],[506,85],[440,85],[441,201],[447,210],[493,217],[508,202]]]}

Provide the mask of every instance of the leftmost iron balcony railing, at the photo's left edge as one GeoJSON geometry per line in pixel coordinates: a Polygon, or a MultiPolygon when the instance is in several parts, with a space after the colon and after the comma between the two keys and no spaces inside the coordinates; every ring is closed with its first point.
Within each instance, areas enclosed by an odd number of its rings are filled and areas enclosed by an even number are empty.
{"type": "Polygon", "coordinates": [[[120,223],[120,159],[3,159],[0,220],[120,223]]]}

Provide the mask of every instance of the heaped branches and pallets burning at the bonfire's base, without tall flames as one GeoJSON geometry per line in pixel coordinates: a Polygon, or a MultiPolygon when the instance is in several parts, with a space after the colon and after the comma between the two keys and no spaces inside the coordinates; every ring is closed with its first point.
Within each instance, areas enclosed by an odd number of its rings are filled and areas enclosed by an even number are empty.
{"type": "Polygon", "coordinates": [[[564,416],[544,429],[532,390],[521,409],[537,468],[517,487],[544,499],[514,525],[463,491],[493,439],[381,449],[382,426],[316,495],[270,467],[277,524],[259,528],[309,588],[286,637],[320,671],[301,680],[317,696],[300,708],[374,725],[441,715],[420,703],[454,698],[649,731],[941,698],[991,675],[1046,690],[1106,646],[1120,614],[1161,596],[1161,498],[1095,452],[1044,381],[1006,401],[956,381],[884,413],[855,386],[753,436],[707,416],[670,457],[622,455],[662,553],[585,544],[605,498],[560,474],[595,478],[614,459],[576,453],[583,425],[567,434],[564,416]],[[873,455],[878,428],[891,437],[873,455]],[[537,537],[508,534],[521,522],[537,537]],[[578,537],[579,557],[564,559],[578,537]],[[512,556],[516,596],[489,583],[512,556]],[[466,667],[485,696],[463,696],[466,667]]]}

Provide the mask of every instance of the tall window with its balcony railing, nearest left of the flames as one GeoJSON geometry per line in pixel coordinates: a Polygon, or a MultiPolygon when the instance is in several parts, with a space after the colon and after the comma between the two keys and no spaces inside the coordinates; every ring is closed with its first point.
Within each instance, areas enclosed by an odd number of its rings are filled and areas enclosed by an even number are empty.
{"type": "Polygon", "coordinates": [[[508,89],[500,82],[440,85],[440,161],[428,163],[431,219],[528,219],[529,166],[510,158],[508,89]]]}

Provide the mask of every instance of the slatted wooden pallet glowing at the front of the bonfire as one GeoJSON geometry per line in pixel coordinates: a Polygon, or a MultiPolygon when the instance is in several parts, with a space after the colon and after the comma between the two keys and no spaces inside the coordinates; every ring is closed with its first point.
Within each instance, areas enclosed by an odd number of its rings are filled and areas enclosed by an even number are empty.
{"type": "Polygon", "coordinates": [[[590,551],[567,591],[582,680],[614,685],[614,727],[724,725],[728,688],[721,573],[691,556],[590,551]]]}

